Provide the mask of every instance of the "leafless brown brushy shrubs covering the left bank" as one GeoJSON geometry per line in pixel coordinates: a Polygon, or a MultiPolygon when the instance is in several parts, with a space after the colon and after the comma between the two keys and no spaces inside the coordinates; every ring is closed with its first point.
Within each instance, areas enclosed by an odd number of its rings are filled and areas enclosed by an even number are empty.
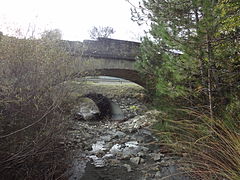
{"type": "Polygon", "coordinates": [[[59,31],[41,39],[1,36],[1,179],[56,179],[65,168],[58,144],[66,128],[61,83],[72,78],[74,61],[59,46],[60,37],[59,31]]]}

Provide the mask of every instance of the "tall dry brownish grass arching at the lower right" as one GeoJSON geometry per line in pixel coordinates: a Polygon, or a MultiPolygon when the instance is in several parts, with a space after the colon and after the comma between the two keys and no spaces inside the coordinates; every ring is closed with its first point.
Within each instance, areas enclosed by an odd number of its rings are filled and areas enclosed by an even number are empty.
{"type": "Polygon", "coordinates": [[[240,179],[239,119],[211,119],[190,110],[184,119],[165,120],[164,144],[182,156],[181,166],[196,179],[240,179]],[[186,118],[188,117],[188,118],[186,118]]]}

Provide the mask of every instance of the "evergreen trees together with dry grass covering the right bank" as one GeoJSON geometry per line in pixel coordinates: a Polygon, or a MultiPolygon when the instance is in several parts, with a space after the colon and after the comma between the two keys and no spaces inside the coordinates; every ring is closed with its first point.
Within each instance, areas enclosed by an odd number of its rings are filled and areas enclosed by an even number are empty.
{"type": "Polygon", "coordinates": [[[138,67],[159,128],[198,179],[240,179],[240,2],[143,0],[132,19],[151,24],[138,67]],[[186,110],[187,109],[187,110],[186,110]]]}

